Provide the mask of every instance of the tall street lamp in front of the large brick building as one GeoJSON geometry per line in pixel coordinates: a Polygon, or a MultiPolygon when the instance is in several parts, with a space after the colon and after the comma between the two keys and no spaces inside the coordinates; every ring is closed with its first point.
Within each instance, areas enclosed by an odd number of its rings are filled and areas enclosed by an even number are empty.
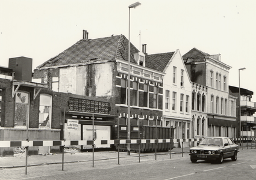
{"type": "MultiPolygon", "coordinates": [[[[131,104],[131,93],[130,93],[130,74],[131,74],[131,44],[130,44],[130,9],[136,8],[137,6],[141,5],[140,2],[135,2],[134,4],[129,5],[129,44],[128,44],[128,122],[127,122],[127,139],[131,139],[131,119],[130,119],[130,104],[131,104]]],[[[127,154],[130,155],[131,145],[127,144],[127,154]]]]}

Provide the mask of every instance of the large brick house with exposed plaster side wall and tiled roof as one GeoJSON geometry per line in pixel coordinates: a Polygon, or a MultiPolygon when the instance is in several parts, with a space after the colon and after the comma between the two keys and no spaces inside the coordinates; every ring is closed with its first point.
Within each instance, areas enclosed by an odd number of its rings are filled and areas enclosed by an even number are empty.
{"type": "MultiPolygon", "coordinates": [[[[34,79],[46,83],[54,92],[65,92],[83,97],[106,98],[113,103],[114,124],[122,133],[128,125],[128,40],[123,35],[83,39],[49,59],[34,70],[34,79]]],[[[139,125],[163,124],[163,75],[148,60],[146,45],[140,52],[131,44],[131,131],[139,125]]],[[[73,110],[66,110],[73,114],[73,110]]],[[[80,116],[92,113],[81,109],[80,116]]],[[[104,115],[107,118],[108,114],[104,115]]],[[[83,120],[83,119],[80,119],[83,120]]],[[[104,121],[105,122],[105,121],[104,121]]],[[[107,122],[106,122],[107,123],[107,122]]],[[[117,137],[117,131],[116,137],[117,137]]],[[[126,133],[127,134],[127,133],[126,133]]]]}

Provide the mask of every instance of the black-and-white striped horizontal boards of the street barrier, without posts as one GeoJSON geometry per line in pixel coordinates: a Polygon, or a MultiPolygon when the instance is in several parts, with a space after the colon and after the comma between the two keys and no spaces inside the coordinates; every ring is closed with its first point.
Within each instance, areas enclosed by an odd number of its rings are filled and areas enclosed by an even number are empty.
{"type": "MultiPolygon", "coordinates": [[[[85,146],[85,145],[122,145],[122,144],[139,144],[139,143],[181,143],[181,142],[198,142],[202,138],[194,139],[115,139],[115,140],[17,140],[17,141],[0,141],[0,148],[20,147],[20,146],[85,146]]],[[[240,138],[234,138],[237,141],[240,138]]],[[[255,140],[255,137],[241,138],[241,140],[255,140]]]]}

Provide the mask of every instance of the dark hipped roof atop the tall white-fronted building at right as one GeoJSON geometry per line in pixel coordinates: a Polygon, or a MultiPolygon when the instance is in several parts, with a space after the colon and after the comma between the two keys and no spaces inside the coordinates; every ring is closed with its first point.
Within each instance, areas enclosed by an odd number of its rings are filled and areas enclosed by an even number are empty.
{"type": "Polygon", "coordinates": [[[195,47],[183,55],[185,64],[190,64],[193,62],[202,62],[205,59],[205,56],[210,56],[208,53],[204,53],[201,50],[196,49],[195,47]]]}

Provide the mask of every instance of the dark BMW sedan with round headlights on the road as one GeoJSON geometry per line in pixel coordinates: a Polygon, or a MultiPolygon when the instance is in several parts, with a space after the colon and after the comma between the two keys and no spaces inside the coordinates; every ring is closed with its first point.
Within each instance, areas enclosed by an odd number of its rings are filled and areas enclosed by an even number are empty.
{"type": "Polygon", "coordinates": [[[222,163],[223,159],[231,158],[237,160],[239,145],[229,137],[205,137],[198,146],[190,148],[190,160],[196,163],[197,160],[215,160],[222,163]]]}

